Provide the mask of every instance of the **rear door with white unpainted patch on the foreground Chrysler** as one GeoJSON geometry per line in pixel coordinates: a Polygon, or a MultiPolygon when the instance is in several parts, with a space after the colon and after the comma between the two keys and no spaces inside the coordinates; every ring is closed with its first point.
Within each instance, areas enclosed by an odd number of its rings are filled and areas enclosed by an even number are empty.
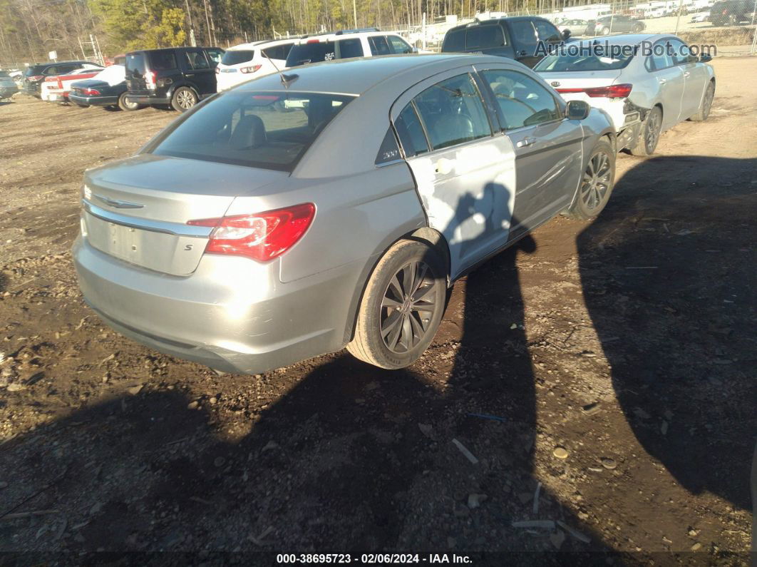
{"type": "Polygon", "coordinates": [[[429,226],[447,239],[453,278],[507,241],[515,155],[490,117],[472,67],[426,79],[391,109],[429,226]]]}

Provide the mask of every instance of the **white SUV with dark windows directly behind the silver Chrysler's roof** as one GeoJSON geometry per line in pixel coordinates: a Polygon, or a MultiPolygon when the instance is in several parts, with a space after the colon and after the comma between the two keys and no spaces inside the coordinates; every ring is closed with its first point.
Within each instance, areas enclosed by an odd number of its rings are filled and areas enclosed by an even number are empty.
{"type": "Polygon", "coordinates": [[[298,67],[308,63],[346,59],[350,57],[372,57],[413,53],[416,50],[395,33],[380,32],[375,27],[361,30],[341,30],[321,36],[298,39],[289,51],[287,67],[298,67]]]}

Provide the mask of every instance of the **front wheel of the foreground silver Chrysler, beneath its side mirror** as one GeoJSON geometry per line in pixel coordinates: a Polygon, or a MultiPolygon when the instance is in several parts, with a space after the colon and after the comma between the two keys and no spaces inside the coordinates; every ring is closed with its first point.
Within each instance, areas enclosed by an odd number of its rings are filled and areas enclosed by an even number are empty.
{"type": "Polygon", "coordinates": [[[615,150],[607,139],[600,139],[581,174],[581,186],[575,203],[565,213],[565,217],[576,220],[597,217],[606,207],[614,186],[615,150]]]}

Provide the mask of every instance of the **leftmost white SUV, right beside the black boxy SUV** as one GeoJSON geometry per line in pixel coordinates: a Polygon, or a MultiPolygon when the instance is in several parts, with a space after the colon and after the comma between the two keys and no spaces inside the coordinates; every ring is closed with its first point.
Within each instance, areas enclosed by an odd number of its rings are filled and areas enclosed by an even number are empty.
{"type": "Polygon", "coordinates": [[[242,43],[226,50],[216,67],[218,91],[231,89],[259,76],[285,67],[294,38],[242,43]]]}

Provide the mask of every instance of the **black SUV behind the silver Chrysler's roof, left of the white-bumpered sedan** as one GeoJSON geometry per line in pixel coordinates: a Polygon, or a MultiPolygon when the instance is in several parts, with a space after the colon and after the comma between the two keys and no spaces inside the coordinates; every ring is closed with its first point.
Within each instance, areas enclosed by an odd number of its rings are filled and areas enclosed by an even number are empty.
{"type": "Polygon", "coordinates": [[[499,55],[534,67],[546,55],[537,53],[538,42],[549,46],[569,36],[567,30],[564,35],[559,33],[554,24],[543,17],[501,17],[451,28],[444,35],[441,51],[499,55]]]}

